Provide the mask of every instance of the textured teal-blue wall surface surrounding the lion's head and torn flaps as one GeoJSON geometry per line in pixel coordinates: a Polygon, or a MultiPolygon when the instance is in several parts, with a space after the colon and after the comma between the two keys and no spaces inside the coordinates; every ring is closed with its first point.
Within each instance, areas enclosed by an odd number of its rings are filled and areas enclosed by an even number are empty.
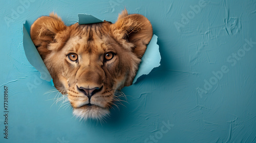
{"type": "Polygon", "coordinates": [[[256,1],[206,1],[192,12],[199,2],[0,1],[0,142],[256,142],[256,44],[246,42],[256,41],[256,1]],[[151,21],[161,65],[122,89],[129,104],[112,110],[105,124],[80,122],[71,108],[53,104],[56,92],[44,94],[53,87],[25,56],[23,23],[52,11],[66,25],[78,13],[114,22],[124,7],[151,21]],[[212,72],[222,68],[216,80],[212,72]]]}

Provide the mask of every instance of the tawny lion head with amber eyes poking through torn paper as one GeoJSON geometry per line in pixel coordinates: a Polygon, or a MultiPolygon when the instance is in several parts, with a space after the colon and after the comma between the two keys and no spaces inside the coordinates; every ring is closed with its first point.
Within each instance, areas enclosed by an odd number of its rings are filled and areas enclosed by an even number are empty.
{"type": "Polygon", "coordinates": [[[71,26],[51,13],[39,17],[30,34],[73,114],[99,119],[109,114],[116,90],[132,84],[153,30],[146,17],[124,10],[114,24],[71,26]]]}

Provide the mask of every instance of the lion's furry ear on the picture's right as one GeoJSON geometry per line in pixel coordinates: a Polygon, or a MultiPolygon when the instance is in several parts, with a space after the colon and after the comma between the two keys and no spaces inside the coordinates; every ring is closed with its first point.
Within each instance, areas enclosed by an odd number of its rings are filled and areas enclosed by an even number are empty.
{"type": "Polygon", "coordinates": [[[125,9],[112,25],[113,35],[128,50],[141,58],[153,36],[150,21],[140,14],[128,14],[125,9]]]}

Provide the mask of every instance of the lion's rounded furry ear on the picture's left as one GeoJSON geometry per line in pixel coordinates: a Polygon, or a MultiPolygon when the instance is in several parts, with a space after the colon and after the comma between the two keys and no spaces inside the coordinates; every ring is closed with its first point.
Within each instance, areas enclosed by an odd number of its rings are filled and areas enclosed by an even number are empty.
{"type": "Polygon", "coordinates": [[[51,13],[50,16],[42,16],[35,20],[30,29],[30,36],[36,46],[47,45],[58,32],[66,28],[61,18],[51,13]]]}

